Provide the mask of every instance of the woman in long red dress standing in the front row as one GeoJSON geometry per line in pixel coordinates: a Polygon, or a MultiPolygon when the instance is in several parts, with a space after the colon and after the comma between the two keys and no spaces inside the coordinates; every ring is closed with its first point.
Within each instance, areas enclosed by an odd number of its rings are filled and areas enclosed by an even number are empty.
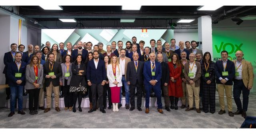
{"type": "Polygon", "coordinates": [[[171,101],[171,109],[178,110],[179,97],[183,96],[182,79],[180,77],[182,69],[177,53],[174,53],[171,59],[172,61],[168,62],[168,67],[170,70],[170,83],[168,85],[168,89],[171,101]]]}

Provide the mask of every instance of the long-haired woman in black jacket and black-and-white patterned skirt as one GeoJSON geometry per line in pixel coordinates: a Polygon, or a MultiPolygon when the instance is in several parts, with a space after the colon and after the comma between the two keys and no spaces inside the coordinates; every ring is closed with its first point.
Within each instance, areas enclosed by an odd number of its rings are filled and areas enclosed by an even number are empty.
{"type": "Polygon", "coordinates": [[[82,112],[82,92],[86,91],[86,67],[82,63],[83,56],[79,53],[76,56],[76,61],[72,64],[72,77],[70,80],[70,92],[73,93],[73,112],[76,112],[76,100],[78,98],[78,109],[82,112]]]}

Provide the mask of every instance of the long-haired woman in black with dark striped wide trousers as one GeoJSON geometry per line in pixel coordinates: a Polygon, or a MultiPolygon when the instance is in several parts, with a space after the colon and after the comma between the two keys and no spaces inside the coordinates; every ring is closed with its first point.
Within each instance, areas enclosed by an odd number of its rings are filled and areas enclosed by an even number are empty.
{"type": "Polygon", "coordinates": [[[201,83],[200,89],[202,89],[203,97],[203,111],[205,113],[215,112],[215,92],[216,92],[216,82],[215,82],[215,63],[212,61],[212,56],[210,52],[205,52],[203,57],[203,62],[201,63],[201,83]]]}

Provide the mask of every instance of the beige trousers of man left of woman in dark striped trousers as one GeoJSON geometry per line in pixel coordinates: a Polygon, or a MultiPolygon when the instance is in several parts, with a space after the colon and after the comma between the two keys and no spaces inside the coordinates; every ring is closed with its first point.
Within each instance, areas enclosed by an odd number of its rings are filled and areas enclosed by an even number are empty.
{"type": "Polygon", "coordinates": [[[193,108],[194,106],[194,97],[195,96],[195,104],[196,108],[199,108],[199,103],[200,103],[200,97],[199,97],[199,92],[200,92],[200,87],[195,87],[195,83],[192,85],[186,84],[186,87],[188,89],[188,104],[190,108],[193,108]]]}

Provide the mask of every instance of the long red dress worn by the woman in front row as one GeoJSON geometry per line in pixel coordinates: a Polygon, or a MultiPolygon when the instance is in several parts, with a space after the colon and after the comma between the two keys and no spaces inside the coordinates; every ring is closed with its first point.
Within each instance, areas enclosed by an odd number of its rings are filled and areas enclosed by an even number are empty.
{"type": "Polygon", "coordinates": [[[180,77],[181,75],[181,65],[179,67],[176,66],[176,64],[173,64],[172,62],[168,62],[168,67],[170,70],[170,78],[174,77],[176,80],[175,82],[172,82],[170,80],[168,85],[169,90],[169,96],[174,97],[183,97],[183,91],[182,91],[182,79],[180,77]]]}

